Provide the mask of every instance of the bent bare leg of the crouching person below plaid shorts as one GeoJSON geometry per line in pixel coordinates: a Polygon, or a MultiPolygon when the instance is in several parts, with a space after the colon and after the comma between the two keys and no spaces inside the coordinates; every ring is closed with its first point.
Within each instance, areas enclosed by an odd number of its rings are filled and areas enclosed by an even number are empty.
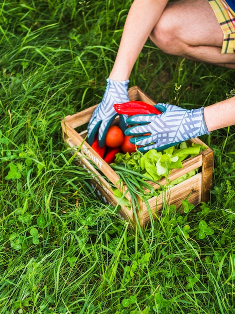
{"type": "Polygon", "coordinates": [[[168,4],[150,39],[168,54],[235,69],[235,53],[221,54],[223,33],[207,0],[168,4]]]}

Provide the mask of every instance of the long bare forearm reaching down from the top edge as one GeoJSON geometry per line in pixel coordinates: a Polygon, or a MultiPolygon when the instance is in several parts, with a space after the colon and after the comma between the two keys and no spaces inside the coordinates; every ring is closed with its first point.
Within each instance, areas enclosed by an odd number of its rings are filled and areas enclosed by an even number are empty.
{"type": "Polygon", "coordinates": [[[167,0],[134,0],[109,75],[111,80],[123,81],[129,78],[134,63],[167,2],[167,0]]]}

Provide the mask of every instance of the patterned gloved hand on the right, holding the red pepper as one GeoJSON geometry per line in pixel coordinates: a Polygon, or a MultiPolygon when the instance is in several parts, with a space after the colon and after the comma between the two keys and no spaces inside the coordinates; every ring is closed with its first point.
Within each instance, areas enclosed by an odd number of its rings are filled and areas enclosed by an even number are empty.
{"type": "Polygon", "coordinates": [[[203,107],[186,110],[163,103],[155,107],[162,113],[137,114],[126,120],[130,125],[139,124],[125,130],[125,135],[134,136],[130,138],[131,143],[143,145],[138,150],[147,151],[152,148],[162,150],[189,138],[209,134],[203,117],[203,107]],[[146,133],[148,135],[144,135],[146,133]]]}

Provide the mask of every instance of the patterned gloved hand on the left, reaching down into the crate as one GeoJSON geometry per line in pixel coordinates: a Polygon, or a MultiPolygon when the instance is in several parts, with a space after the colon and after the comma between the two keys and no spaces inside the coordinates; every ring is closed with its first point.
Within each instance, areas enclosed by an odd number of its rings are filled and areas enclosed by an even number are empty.
{"type": "MultiPolygon", "coordinates": [[[[91,145],[95,135],[98,132],[98,143],[100,147],[104,146],[106,132],[116,117],[117,113],[113,108],[115,103],[124,103],[129,101],[128,83],[126,81],[112,81],[107,79],[106,89],[102,101],[94,109],[90,121],[88,123],[87,141],[91,145]]],[[[127,115],[120,115],[119,126],[124,132],[127,115]]]]}

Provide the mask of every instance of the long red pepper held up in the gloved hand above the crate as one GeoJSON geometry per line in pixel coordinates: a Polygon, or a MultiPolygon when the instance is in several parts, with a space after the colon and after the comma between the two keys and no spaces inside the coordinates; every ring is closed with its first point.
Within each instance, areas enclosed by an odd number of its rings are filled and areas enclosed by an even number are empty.
{"type": "Polygon", "coordinates": [[[122,104],[114,104],[113,107],[118,114],[135,115],[135,114],[161,113],[154,106],[146,102],[137,100],[124,102],[122,104]]]}

